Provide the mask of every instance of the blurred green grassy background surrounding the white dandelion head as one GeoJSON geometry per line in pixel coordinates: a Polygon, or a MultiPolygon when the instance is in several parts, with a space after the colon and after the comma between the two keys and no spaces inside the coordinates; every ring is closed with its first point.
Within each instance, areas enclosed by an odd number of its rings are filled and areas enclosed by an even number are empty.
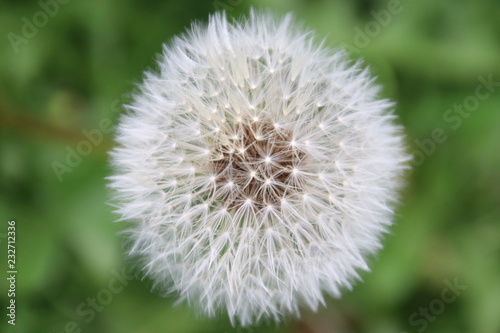
{"type": "Polygon", "coordinates": [[[498,0],[54,1],[0,1],[1,332],[500,332],[498,0]],[[240,16],[250,6],[293,11],[328,45],[364,58],[397,101],[415,160],[364,282],[300,320],[242,329],[123,275],[124,225],[113,223],[104,177],[107,126],[162,43],[216,10],[240,16]],[[99,129],[102,142],[82,143],[99,129]],[[60,169],[78,147],[86,156],[60,169]],[[453,293],[454,283],[466,288],[453,293]]]}

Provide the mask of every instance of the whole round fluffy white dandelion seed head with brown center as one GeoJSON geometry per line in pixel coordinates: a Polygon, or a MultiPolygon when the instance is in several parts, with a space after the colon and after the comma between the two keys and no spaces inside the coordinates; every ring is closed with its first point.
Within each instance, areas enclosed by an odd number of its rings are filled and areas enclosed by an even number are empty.
{"type": "Polygon", "coordinates": [[[266,12],[215,14],[158,65],[111,153],[145,275],[243,326],[351,288],[381,247],[408,161],[369,72],[266,12]]]}

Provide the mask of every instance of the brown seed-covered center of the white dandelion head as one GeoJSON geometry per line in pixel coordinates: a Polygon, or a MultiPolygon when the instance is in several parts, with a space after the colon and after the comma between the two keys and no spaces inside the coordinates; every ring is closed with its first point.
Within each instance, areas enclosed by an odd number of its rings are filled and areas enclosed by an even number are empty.
{"type": "Polygon", "coordinates": [[[212,151],[215,197],[228,210],[278,208],[298,190],[297,167],[304,152],[290,130],[269,120],[243,120],[219,136],[212,151]]]}

